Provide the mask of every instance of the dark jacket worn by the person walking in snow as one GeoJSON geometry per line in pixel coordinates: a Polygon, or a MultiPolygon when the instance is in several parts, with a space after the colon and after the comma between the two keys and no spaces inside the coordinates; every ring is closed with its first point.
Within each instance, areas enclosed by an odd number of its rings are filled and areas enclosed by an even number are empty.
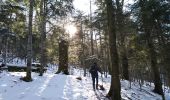
{"type": "Polygon", "coordinates": [[[98,71],[101,72],[101,69],[97,66],[97,64],[92,65],[89,70],[92,77],[98,77],[98,71]]]}

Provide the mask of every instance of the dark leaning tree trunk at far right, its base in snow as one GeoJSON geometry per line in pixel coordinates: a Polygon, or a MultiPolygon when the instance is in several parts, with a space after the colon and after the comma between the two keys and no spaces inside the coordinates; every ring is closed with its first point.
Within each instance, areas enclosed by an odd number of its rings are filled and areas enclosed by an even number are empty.
{"type": "Polygon", "coordinates": [[[154,92],[162,95],[162,99],[165,100],[163,89],[162,89],[162,82],[160,79],[160,72],[159,68],[157,66],[157,57],[156,57],[156,51],[154,48],[153,44],[153,38],[152,38],[152,32],[153,32],[153,18],[151,18],[150,14],[151,11],[148,11],[148,8],[146,8],[147,0],[140,0],[139,1],[139,6],[141,7],[141,20],[144,28],[144,32],[146,34],[146,40],[148,44],[148,49],[149,49],[149,56],[150,56],[150,62],[151,62],[151,69],[153,71],[153,76],[154,76],[154,92]]]}

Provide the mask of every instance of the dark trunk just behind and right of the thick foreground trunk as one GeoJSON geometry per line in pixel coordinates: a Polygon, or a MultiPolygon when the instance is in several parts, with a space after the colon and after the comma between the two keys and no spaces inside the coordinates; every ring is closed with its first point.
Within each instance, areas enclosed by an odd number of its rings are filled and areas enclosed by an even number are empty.
{"type": "Polygon", "coordinates": [[[124,27],[124,16],[123,16],[123,5],[124,0],[116,0],[116,6],[117,6],[117,14],[116,14],[116,20],[117,20],[117,29],[119,33],[120,38],[120,60],[121,60],[121,67],[123,69],[123,78],[125,80],[129,80],[129,71],[128,71],[128,58],[126,53],[126,46],[125,46],[125,27],[124,27]]]}

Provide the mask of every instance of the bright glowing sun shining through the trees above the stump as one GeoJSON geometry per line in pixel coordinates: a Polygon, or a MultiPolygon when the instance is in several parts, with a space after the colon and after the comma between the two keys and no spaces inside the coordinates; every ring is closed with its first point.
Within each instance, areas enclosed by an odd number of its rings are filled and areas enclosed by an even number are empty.
{"type": "Polygon", "coordinates": [[[69,34],[70,37],[74,36],[75,33],[77,32],[77,28],[73,24],[68,24],[65,26],[66,32],[69,34]]]}

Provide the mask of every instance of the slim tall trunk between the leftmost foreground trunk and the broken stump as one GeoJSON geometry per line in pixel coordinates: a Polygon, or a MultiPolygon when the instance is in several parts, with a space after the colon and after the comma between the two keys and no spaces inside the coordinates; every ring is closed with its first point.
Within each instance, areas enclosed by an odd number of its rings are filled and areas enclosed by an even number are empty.
{"type": "Polygon", "coordinates": [[[41,58],[40,76],[46,66],[46,0],[41,0],[40,4],[40,33],[41,33],[41,58]]]}

